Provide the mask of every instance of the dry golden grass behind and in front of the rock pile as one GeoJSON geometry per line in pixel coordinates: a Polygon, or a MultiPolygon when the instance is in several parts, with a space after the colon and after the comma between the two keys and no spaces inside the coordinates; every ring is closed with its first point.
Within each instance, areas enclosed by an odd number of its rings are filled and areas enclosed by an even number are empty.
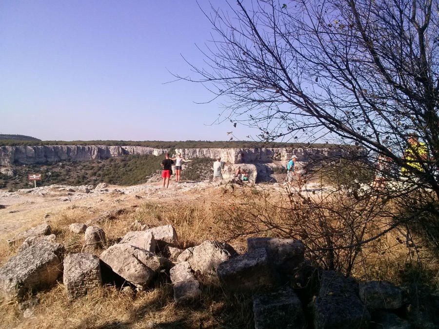
{"type": "MultiPolygon", "coordinates": [[[[279,207],[288,205],[290,201],[282,199],[279,194],[247,187],[224,187],[215,191],[215,198],[208,193],[211,192],[206,192],[206,199],[199,198],[197,201],[176,203],[156,200],[126,206],[126,211],[117,218],[100,223],[106,233],[106,247],[131,231],[130,225],[134,221],[150,227],[172,224],[178,233],[180,248],[215,239],[227,240],[239,252],[244,252],[245,237],[233,235],[237,228],[238,231],[255,232],[250,235],[281,235],[279,230],[263,230],[264,223],[254,223],[252,226],[243,221],[252,213],[251,210],[264,209],[266,218],[271,222],[282,223],[285,213],[279,211],[279,207]],[[232,226],[234,230],[231,230],[232,226]]],[[[93,219],[103,210],[102,206],[79,207],[64,209],[50,216],[50,225],[57,234],[57,241],[65,245],[67,253],[80,252],[83,242],[83,235],[69,232],[68,226],[93,219]]],[[[39,215],[35,220],[30,219],[22,229],[40,222],[39,215]]],[[[374,230],[369,233],[373,234],[374,230]]],[[[287,235],[288,232],[285,232],[284,236],[287,235]]],[[[4,263],[15,250],[9,250],[3,241],[0,243],[0,261],[4,263]]],[[[426,249],[421,252],[427,256],[426,249]]],[[[363,248],[352,273],[359,278],[398,282],[407,264],[416,263],[415,256],[413,248],[406,247],[403,232],[392,231],[363,248]]],[[[437,271],[438,268],[439,265],[435,263],[431,270],[437,271]]],[[[61,279],[56,287],[36,295],[40,303],[30,319],[23,318],[16,303],[0,305],[0,317],[3,319],[0,328],[149,328],[152,324],[154,328],[253,327],[248,296],[224,294],[218,282],[211,277],[201,277],[200,280],[200,298],[191,305],[177,306],[173,301],[172,286],[166,278],[147,291],[125,292],[120,287],[104,286],[73,302],[67,299],[61,279]]]]}

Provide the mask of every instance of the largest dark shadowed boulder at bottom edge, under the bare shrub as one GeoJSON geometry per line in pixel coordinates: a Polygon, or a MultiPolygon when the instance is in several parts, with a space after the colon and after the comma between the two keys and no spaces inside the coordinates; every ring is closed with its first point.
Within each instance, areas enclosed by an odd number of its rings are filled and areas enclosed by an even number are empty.
{"type": "Polygon", "coordinates": [[[314,302],[314,328],[367,329],[370,314],[358,297],[358,284],[337,271],[323,271],[314,302]]]}

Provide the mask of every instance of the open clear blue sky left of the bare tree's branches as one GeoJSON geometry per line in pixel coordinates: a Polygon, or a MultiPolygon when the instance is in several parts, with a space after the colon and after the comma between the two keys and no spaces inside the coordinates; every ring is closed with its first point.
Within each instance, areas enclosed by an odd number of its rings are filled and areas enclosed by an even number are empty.
{"type": "MultiPolygon", "coordinates": [[[[204,3],[204,1],[200,1],[204,3]]],[[[214,3],[216,3],[214,1],[214,3]]],[[[219,3],[223,4],[221,0],[219,3]]],[[[209,126],[201,85],[168,72],[202,65],[211,39],[195,0],[1,0],[0,134],[43,140],[228,140],[259,131],[209,126]]]]}

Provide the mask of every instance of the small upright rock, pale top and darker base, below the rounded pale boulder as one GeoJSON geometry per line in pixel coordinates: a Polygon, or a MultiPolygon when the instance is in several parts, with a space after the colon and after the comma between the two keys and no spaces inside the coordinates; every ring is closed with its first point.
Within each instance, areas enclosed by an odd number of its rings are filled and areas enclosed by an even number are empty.
{"type": "Polygon", "coordinates": [[[174,289],[174,300],[177,304],[200,296],[200,284],[195,279],[188,262],[177,264],[169,271],[169,274],[174,289]]]}

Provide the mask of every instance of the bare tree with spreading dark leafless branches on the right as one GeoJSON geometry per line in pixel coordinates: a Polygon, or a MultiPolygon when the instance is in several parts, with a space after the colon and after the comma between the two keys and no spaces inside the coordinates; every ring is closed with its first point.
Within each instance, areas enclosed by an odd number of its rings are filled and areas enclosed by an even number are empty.
{"type": "Polygon", "coordinates": [[[230,97],[223,119],[259,127],[263,140],[327,138],[379,158],[371,169],[392,184],[369,190],[375,208],[361,213],[402,206],[376,236],[424,214],[438,222],[438,0],[238,0],[204,12],[207,66],[185,79],[230,97]]]}

